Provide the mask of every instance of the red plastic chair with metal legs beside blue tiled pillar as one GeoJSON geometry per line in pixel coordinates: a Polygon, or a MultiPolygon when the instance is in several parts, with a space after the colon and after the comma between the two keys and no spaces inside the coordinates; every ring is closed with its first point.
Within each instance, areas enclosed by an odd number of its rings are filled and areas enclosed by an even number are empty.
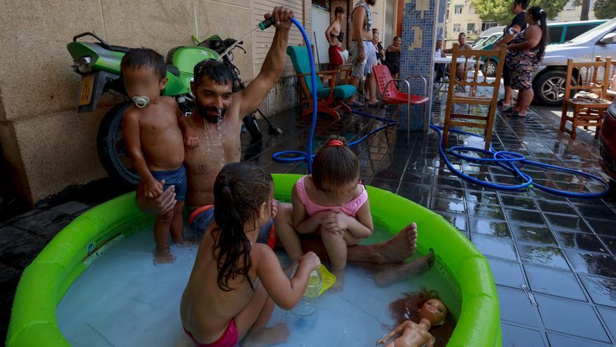
{"type": "MultiPolygon", "coordinates": [[[[374,73],[374,77],[376,78],[376,83],[378,85],[378,93],[381,95],[383,102],[383,106],[388,104],[406,104],[406,146],[410,144],[411,137],[411,105],[421,105],[430,101],[430,97],[427,97],[427,81],[422,76],[409,76],[408,79],[392,79],[392,75],[389,72],[388,67],[385,65],[374,65],[372,67],[372,72],[374,73]],[[423,95],[413,95],[411,94],[411,84],[409,83],[409,79],[422,79],[423,80],[423,95]],[[402,81],[406,84],[406,91],[409,93],[402,93],[398,90],[395,84],[392,82],[402,81]]],[[[427,128],[427,105],[425,105],[424,118],[425,118],[425,127],[427,128]]]]}

